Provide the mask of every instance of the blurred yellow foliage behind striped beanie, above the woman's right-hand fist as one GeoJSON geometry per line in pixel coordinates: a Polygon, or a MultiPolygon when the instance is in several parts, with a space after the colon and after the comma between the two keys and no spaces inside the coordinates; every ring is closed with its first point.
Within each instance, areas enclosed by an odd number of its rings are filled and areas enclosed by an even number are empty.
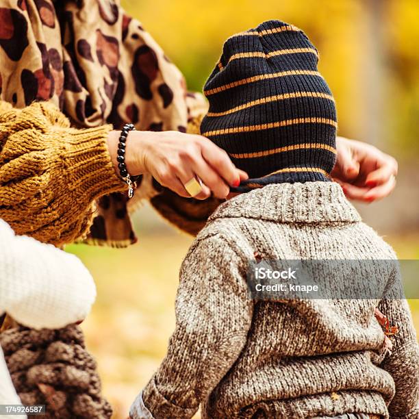
{"type": "Polygon", "coordinates": [[[270,19],[293,23],[320,51],[340,134],[399,157],[419,152],[417,0],[123,0],[122,5],[142,21],[193,90],[202,89],[231,34],[270,19]]]}

